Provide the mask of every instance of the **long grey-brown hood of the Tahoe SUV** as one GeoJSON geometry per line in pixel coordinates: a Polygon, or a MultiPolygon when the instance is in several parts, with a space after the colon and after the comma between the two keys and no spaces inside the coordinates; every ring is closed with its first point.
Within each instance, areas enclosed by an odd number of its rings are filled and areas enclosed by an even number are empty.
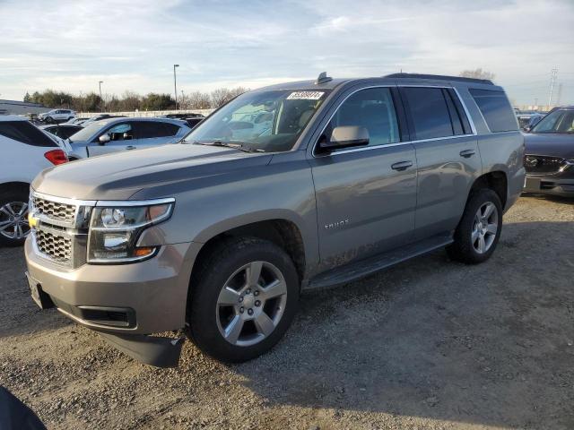
{"type": "MultiPolygon", "coordinates": [[[[48,168],[36,176],[39,193],[82,200],[128,200],[143,188],[161,188],[200,177],[222,176],[242,168],[265,166],[272,155],[191,144],[81,159],[48,168]]],[[[154,197],[165,197],[156,195],[154,197]]]]}

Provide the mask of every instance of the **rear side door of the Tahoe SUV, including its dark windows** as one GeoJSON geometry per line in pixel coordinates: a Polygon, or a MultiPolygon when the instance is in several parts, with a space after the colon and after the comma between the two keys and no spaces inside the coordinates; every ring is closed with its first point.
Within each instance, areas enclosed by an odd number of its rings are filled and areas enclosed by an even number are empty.
{"type": "Polygon", "coordinates": [[[482,162],[474,127],[452,88],[400,88],[418,165],[415,239],[457,227],[482,162]]]}

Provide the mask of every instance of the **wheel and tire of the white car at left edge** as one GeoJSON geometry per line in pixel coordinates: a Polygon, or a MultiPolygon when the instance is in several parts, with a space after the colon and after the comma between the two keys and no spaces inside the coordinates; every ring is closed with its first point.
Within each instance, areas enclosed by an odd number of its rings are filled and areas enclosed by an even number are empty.
{"type": "Polygon", "coordinates": [[[0,192],[0,245],[20,246],[29,233],[28,190],[0,192]]]}

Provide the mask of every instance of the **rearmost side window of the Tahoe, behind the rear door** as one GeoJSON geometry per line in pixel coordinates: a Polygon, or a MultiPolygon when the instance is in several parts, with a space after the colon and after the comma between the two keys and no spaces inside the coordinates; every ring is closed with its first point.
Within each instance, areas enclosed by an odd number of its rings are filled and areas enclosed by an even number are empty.
{"type": "Polygon", "coordinates": [[[481,109],[484,120],[491,132],[517,130],[517,118],[504,91],[468,90],[481,109]]]}

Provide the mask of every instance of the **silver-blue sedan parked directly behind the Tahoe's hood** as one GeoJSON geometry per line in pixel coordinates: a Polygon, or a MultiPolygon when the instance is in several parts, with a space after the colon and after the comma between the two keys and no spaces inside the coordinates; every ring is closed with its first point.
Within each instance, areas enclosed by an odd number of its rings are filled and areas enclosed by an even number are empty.
{"type": "Polygon", "coordinates": [[[70,159],[176,143],[190,130],[183,121],[167,118],[100,119],[69,137],[70,159]]]}

